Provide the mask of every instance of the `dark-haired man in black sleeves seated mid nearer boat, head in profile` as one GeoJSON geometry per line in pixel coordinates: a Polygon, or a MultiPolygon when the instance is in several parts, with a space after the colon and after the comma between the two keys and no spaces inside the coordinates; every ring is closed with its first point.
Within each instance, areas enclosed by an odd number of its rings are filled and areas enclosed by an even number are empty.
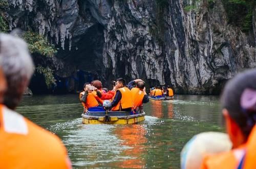
{"type": "Polygon", "coordinates": [[[124,79],[117,79],[115,88],[116,93],[111,102],[112,111],[132,111],[132,93],[130,89],[125,86],[124,79]]]}

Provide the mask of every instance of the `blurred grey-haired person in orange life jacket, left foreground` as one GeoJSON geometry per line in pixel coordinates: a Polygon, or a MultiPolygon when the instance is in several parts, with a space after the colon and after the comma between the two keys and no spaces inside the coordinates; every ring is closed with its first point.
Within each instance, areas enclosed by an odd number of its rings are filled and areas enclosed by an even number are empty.
{"type": "Polygon", "coordinates": [[[14,111],[34,71],[27,43],[1,33],[0,67],[7,81],[4,104],[0,104],[1,168],[71,168],[61,140],[14,111]]]}

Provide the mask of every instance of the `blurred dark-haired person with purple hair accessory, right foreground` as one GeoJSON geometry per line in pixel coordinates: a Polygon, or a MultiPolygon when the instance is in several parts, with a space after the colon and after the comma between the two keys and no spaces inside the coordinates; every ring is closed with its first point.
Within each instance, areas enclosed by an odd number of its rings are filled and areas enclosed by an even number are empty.
{"type": "Polygon", "coordinates": [[[225,85],[221,96],[226,131],[233,149],[206,156],[201,168],[254,168],[256,166],[256,70],[245,71],[225,85]]]}

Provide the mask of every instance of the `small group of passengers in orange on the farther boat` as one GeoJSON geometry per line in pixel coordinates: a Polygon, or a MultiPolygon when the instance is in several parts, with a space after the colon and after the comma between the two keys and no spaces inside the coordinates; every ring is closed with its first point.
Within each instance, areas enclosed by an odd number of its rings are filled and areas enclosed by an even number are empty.
{"type": "Polygon", "coordinates": [[[150,89],[150,96],[152,98],[173,97],[174,91],[170,86],[162,86],[162,89],[159,86],[155,86],[150,89]]]}

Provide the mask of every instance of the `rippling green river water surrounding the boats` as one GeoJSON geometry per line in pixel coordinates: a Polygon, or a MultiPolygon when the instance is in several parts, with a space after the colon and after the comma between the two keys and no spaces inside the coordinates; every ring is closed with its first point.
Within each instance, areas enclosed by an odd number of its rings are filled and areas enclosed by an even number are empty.
{"type": "Polygon", "coordinates": [[[138,125],[83,125],[78,95],[25,96],[17,111],[57,134],[73,168],[180,168],[195,134],[224,131],[218,96],[176,95],[144,105],[138,125]]]}

